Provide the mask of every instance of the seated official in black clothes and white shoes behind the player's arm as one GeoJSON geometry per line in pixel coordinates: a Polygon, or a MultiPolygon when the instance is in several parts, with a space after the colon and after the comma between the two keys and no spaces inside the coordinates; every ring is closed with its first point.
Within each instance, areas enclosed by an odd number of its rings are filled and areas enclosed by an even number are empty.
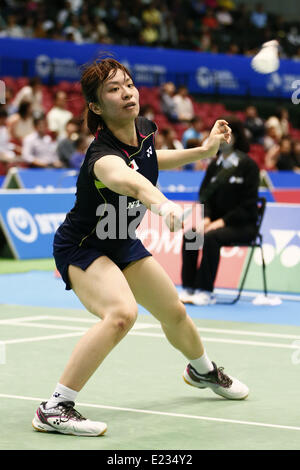
{"type": "Polygon", "coordinates": [[[256,233],[259,169],[247,155],[249,144],[242,122],[234,118],[226,120],[232,129],[232,140],[221,145],[219,155],[210,163],[199,191],[199,200],[204,204],[204,234],[199,233],[199,227],[184,234],[184,289],[180,298],[195,305],[216,302],[213,290],[221,246],[250,242],[256,233]],[[198,252],[203,239],[202,260],[198,269],[198,252]]]}

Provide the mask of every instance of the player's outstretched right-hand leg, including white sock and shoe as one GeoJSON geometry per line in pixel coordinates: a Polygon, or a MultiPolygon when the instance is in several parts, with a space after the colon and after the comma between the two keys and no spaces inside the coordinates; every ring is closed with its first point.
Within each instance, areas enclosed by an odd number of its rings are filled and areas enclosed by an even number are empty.
{"type": "Polygon", "coordinates": [[[199,388],[210,387],[225,398],[246,398],[248,387],[225,375],[207,357],[194,322],[160,264],[147,257],[130,264],[123,272],[136,301],[161,322],[169,342],[189,360],[185,381],[199,388]]]}

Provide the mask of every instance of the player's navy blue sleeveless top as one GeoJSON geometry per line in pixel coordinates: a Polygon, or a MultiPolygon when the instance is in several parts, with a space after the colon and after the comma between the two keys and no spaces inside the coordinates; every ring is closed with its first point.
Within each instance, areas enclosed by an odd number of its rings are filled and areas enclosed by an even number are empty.
{"type": "Polygon", "coordinates": [[[127,225],[136,220],[141,221],[146,212],[146,207],[140,201],[132,197],[121,196],[111,191],[94,174],[94,165],[97,160],[105,155],[116,155],[125,161],[126,165],[147,178],[154,186],[158,179],[158,163],[154,147],[154,135],[156,125],[144,117],[136,119],[138,146],[133,147],[119,141],[106,127],[98,132],[96,138],[89,146],[84,162],[81,166],[78,179],[76,202],[74,207],[66,215],[65,221],[58,228],[60,240],[78,246],[89,246],[103,249],[106,245],[115,245],[118,239],[126,238],[124,230],[119,231],[120,217],[127,211],[127,225]],[[110,204],[116,213],[116,227],[114,236],[116,239],[101,239],[97,235],[97,226],[107,217],[106,208],[110,204]],[[135,210],[134,210],[135,209],[135,210]],[[134,212],[134,215],[130,215],[134,212]]]}

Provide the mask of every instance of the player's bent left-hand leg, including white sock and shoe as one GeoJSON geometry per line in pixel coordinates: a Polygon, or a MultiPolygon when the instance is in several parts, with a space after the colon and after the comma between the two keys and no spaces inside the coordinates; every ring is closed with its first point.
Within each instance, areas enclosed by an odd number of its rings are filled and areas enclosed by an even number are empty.
{"type": "Polygon", "coordinates": [[[132,327],[137,305],[122,271],[105,256],[86,271],[70,266],[69,279],[80,301],[99,322],[75,346],[52,397],[40,405],[32,424],[39,431],[97,436],[105,432],[106,424],[83,419],[74,410],[75,398],[132,327]]]}

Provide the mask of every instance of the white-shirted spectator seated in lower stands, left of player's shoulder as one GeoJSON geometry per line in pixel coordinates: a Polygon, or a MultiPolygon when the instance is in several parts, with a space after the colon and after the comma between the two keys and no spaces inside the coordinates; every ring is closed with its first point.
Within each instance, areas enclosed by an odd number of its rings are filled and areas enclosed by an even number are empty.
{"type": "Polygon", "coordinates": [[[33,168],[62,166],[57,153],[57,142],[48,134],[47,120],[44,116],[34,119],[34,132],[25,137],[22,158],[33,168]]]}

